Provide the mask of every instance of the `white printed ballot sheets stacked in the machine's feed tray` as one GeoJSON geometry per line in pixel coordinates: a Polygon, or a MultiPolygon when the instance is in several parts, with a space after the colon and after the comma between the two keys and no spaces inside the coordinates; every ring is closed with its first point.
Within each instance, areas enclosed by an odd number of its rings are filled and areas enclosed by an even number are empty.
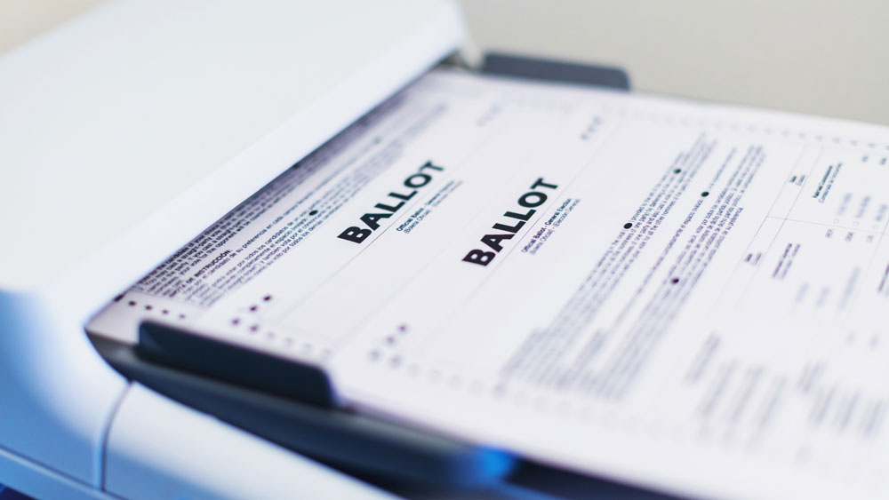
{"type": "Polygon", "coordinates": [[[89,329],[654,488],[885,497],[887,163],[884,127],[436,70],[89,329]]]}

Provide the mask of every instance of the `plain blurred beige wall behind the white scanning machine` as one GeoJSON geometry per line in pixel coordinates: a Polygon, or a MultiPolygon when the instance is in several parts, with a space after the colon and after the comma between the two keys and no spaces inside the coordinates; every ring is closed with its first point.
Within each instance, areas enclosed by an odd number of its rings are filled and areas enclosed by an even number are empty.
{"type": "MultiPolygon", "coordinates": [[[[0,52],[99,2],[0,0],[0,52]]],[[[460,3],[481,50],[621,66],[639,91],[889,124],[889,0],[460,3]]]]}

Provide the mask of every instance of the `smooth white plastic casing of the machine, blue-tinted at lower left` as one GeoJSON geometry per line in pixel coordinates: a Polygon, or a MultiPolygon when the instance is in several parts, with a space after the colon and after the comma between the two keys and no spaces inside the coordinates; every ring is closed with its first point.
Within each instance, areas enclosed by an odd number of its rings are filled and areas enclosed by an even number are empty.
{"type": "Polygon", "coordinates": [[[439,0],[116,0],[0,58],[0,483],[236,496],[266,478],[264,496],[375,495],[129,385],[83,325],[461,38],[439,0]]]}

